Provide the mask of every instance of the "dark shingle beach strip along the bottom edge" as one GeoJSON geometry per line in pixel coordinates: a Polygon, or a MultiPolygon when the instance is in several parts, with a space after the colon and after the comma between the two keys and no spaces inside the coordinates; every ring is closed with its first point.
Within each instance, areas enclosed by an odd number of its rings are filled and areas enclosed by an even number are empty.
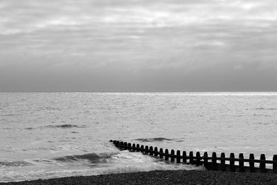
{"type": "Polygon", "coordinates": [[[230,173],[208,170],[153,170],[0,184],[277,184],[277,174],[230,173]]]}

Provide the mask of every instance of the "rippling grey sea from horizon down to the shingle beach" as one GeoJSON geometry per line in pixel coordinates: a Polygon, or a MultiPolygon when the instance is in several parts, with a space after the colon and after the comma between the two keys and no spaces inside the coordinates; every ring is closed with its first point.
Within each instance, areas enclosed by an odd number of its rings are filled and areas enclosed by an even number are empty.
{"type": "Polygon", "coordinates": [[[119,150],[277,154],[277,93],[1,92],[0,182],[205,170],[119,150]]]}

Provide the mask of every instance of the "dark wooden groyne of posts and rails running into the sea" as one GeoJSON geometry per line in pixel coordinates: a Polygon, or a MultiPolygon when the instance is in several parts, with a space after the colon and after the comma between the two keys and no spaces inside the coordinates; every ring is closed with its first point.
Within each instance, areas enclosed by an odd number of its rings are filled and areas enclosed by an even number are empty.
{"type": "Polygon", "coordinates": [[[127,143],[123,141],[113,141],[117,148],[120,150],[129,150],[130,152],[142,152],[145,155],[150,155],[154,157],[160,157],[166,161],[172,161],[176,163],[183,164],[193,164],[196,166],[202,166],[207,170],[222,170],[230,172],[249,172],[249,173],[277,173],[277,155],[274,155],[272,160],[266,160],[265,155],[260,155],[260,159],[255,159],[253,154],[249,155],[249,159],[244,158],[244,155],[240,153],[238,158],[235,158],[235,154],[231,153],[230,157],[226,157],[225,153],[222,152],[220,157],[217,157],[216,152],[213,152],[212,156],[208,156],[208,152],[204,152],[204,155],[201,156],[200,152],[190,151],[188,154],[186,151],[164,150],[152,146],[143,146],[136,143],[127,143]],[[226,163],[226,161],[229,161],[226,163]],[[235,163],[237,162],[237,164],[235,163]],[[259,167],[256,167],[255,164],[259,164],[259,167]],[[271,164],[272,168],[267,168],[267,164],[271,164]]]}

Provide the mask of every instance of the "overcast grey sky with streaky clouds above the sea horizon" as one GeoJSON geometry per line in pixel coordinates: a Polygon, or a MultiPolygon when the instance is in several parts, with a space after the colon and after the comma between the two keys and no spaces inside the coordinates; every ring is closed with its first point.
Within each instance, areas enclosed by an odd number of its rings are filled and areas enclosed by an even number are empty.
{"type": "Polygon", "coordinates": [[[1,0],[0,91],[277,91],[277,1],[1,0]]]}

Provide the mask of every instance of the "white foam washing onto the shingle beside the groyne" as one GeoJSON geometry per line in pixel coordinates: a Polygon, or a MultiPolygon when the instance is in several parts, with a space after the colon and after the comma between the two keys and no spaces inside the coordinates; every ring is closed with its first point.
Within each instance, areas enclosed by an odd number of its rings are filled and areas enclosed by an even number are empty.
{"type": "Polygon", "coordinates": [[[1,182],[22,181],[32,179],[49,179],[57,177],[84,176],[84,175],[105,175],[111,173],[135,173],[151,170],[205,170],[203,166],[190,166],[161,161],[159,158],[143,155],[141,152],[129,152],[123,150],[111,156],[105,163],[91,165],[82,163],[66,163],[58,166],[26,166],[14,168],[13,170],[0,170],[1,182]],[[28,169],[29,170],[28,170],[28,169]]]}

